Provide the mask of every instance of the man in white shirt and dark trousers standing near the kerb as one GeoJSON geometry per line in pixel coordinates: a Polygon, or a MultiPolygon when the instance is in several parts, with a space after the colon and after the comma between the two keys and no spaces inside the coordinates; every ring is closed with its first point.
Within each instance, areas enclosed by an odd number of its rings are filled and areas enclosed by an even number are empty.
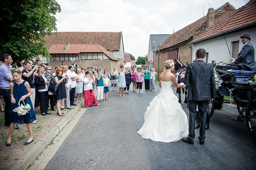
{"type": "Polygon", "coordinates": [[[71,89],[69,91],[69,99],[70,99],[70,105],[71,106],[77,106],[77,104],[74,103],[75,100],[75,93],[76,93],[76,80],[78,79],[78,76],[74,72],[74,66],[71,64],[68,66],[68,74],[69,74],[69,82],[71,83],[71,89]]]}

